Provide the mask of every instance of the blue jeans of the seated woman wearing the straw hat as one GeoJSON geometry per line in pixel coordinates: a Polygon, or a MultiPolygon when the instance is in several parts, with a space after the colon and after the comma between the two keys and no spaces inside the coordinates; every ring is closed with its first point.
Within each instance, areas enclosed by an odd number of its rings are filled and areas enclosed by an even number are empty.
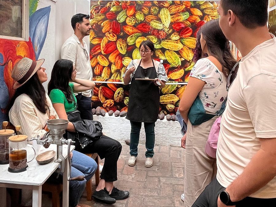
{"type": "Polygon", "coordinates": [[[93,177],[98,166],[94,159],[75,150],[73,151],[71,163],[71,177],[85,176],[83,181],[69,182],[69,206],[75,207],[82,196],[86,181],[93,177]]]}

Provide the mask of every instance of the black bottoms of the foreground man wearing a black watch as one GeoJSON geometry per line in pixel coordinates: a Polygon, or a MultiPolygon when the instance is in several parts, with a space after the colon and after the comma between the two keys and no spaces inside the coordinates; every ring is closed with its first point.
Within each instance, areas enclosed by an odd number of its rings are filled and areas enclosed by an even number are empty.
{"type": "MultiPolygon", "coordinates": [[[[217,207],[217,198],[221,191],[225,190],[217,181],[217,178],[206,186],[205,190],[199,195],[192,207],[217,207]]],[[[246,197],[238,201],[236,207],[275,207],[276,198],[253,198],[246,197]]]]}

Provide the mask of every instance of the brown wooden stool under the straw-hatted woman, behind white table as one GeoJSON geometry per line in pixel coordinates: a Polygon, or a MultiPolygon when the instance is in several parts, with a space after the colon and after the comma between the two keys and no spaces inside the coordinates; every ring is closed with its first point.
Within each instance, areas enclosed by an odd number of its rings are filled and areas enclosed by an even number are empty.
{"type": "Polygon", "coordinates": [[[45,182],[42,185],[42,191],[50,192],[52,194],[53,207],[60,207],[59,195],[62,192],[62,184],[50,184],[50,183],[45,182]]]}

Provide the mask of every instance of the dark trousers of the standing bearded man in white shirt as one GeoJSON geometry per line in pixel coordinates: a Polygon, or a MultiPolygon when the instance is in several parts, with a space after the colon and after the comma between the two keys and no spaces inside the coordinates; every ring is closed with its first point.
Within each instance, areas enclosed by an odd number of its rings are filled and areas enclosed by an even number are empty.
{"type": "Polygon", "coordinates": [[[91,97],[83,96],[81,93],[76,95],[78,110],[82,119],[93,120],[91,97]]]}

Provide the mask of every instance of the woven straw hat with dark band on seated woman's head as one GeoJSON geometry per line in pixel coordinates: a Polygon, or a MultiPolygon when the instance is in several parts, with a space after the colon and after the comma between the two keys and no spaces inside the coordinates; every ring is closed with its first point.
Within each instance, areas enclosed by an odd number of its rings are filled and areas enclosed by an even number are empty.
{"type": "Polygon", "coordinates": [[[41,67],[43,63],[44,59],[33,61],[32,59],[29,59],[27,57],[24,57],[23,59],[18,61],[14,65],[11,74],[11,77],[13,78],[13,80],[15,80],[13,88],[17,89],[25,82],[27,82],[36,73],[36,71],[41,67]]]}

